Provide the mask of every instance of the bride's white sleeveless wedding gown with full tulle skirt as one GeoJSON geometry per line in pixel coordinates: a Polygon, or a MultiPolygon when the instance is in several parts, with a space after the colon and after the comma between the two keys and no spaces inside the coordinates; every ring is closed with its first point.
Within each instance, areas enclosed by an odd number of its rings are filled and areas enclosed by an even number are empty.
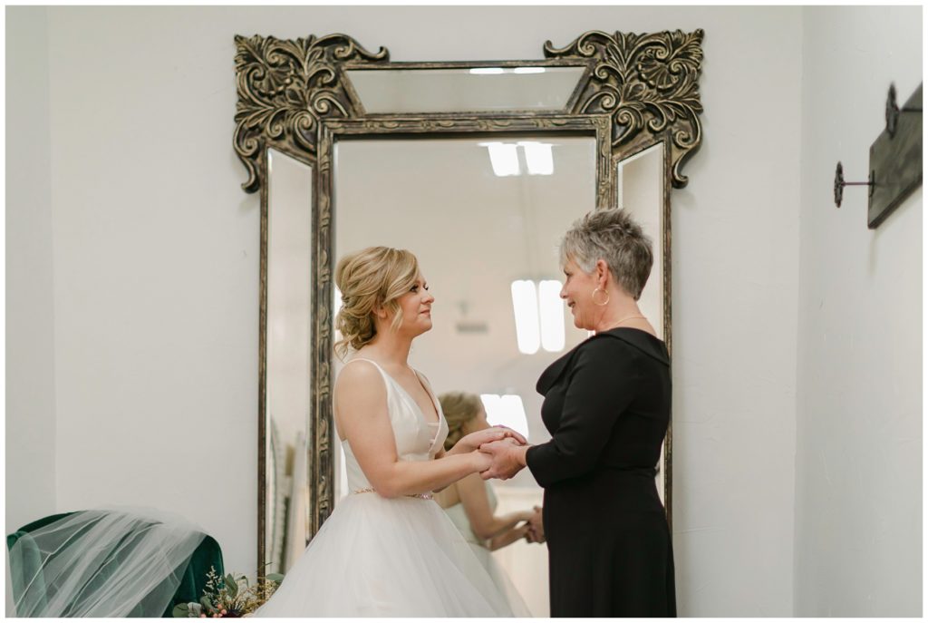
{"type": "MultiPolygon", "coordinates": [[[[370,361],[359,359],[354,361],[370,361]]],[[[401,461],[431,461],[448,434],[380,368],[401,461]]],[[[423,386],[425,384],[423,383],[423,386]]],[[[258,617],[512,617],[509,604],[429,493],[381,498],[342,442],[352,493],[339,502],[258,617]]]]}

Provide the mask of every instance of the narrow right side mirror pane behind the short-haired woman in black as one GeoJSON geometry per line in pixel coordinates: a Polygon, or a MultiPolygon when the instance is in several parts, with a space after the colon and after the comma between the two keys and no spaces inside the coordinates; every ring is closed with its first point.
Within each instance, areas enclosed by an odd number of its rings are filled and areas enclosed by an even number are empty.
{"type": "MultiPolygon", "coordinates": [[[[664,144],[639,151],[618,163],[618,205],[631,213],[651,238],[654,264],[651,277],[641,292],[638,307],[651,320],[658,337],[664,331],[664,144]]],[[[665,446],[665,444],[664,444],[665,446]]],[[[661,447],[657,492],[664,502],[664,446],[661,447]]]]}

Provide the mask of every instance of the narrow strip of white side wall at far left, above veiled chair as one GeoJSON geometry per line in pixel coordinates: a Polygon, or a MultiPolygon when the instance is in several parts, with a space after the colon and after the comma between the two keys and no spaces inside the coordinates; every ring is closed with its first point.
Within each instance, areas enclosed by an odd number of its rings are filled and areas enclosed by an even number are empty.
{"type": "Polygon", "coordinates": [[[55,512],[55,305],[45,8],[6,9],[6,128],[9,534],[55,512]]]}

